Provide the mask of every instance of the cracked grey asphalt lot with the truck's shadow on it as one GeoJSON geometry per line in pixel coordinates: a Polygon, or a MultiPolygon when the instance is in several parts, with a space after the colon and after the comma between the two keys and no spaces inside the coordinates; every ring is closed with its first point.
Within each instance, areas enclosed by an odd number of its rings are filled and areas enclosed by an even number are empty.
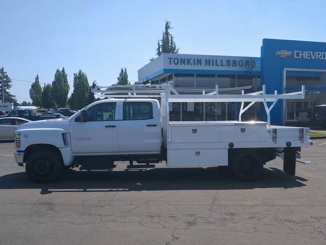
{"type": "Polygon", "coordinates": [[[36,184],[0,143],[0,244],[326,244],[326,140],[296,176],[274,160],[255,182],[223,168],[65,173],[36,184]]]}

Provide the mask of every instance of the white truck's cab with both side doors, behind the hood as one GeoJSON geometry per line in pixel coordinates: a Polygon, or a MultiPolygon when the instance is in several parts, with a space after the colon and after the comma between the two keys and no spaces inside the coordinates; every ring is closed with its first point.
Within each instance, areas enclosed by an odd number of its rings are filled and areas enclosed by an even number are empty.
{"type": "Polygon", "coordinates": [[[71,118],[73,154],[160,153],[161,119],[157,100],[103,100],[85,109],[87,118],[82,118],[81,113],[71,118]]]}

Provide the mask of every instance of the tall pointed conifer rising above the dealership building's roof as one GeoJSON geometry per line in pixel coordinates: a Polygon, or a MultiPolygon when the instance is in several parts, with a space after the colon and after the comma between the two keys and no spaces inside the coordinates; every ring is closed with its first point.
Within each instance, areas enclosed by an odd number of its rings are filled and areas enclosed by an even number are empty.
{"type": "Polygon", "coordinates": [[[172,29],[170,24],[171,21],[165,21],[165,30],[162,32],[162,39],[157,40],[156,56],[160,56],[161,54],[179,53],[179,48],[176,46],[174,36],[170,33],[170,30],[172,29]]]}

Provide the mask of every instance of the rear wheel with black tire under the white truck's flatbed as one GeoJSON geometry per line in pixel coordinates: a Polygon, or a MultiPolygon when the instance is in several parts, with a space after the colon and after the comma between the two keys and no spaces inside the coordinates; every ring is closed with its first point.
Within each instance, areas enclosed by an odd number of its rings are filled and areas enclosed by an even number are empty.
{"type": "Polygon", "coordinates": [[[240,181],[256,180],[264,168],[259,155],[251,151],[234,152],[230,167],[232,174],[240,181]]]}

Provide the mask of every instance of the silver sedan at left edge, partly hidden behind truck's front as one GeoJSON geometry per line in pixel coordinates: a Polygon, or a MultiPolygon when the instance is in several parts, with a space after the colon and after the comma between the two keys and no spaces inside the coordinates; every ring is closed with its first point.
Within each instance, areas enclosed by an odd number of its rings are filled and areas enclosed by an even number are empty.
{"type": "Polygon", "coordinates": [[[31,122],[31,120],[20,117],[0,118],[0,140],[15,139],[15,129],[26,122],[31,122]]]}

